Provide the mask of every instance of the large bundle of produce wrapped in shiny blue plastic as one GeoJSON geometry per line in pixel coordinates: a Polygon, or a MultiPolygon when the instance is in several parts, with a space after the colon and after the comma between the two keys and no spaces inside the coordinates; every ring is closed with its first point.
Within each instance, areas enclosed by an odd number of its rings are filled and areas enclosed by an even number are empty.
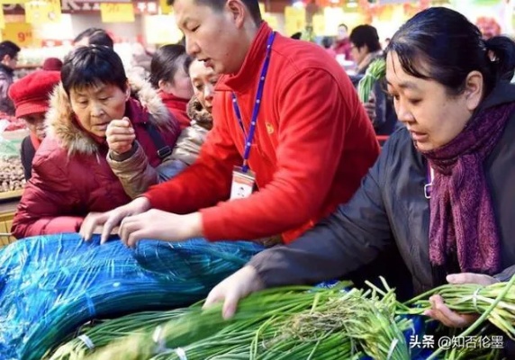
{"type": "Polygon", "coordinates": [[[89,320],[198,302],[263,248],[196,238],[131,249],[77,233],[18,240],[0,250],[0,359],[41,359],[89,320]]]}

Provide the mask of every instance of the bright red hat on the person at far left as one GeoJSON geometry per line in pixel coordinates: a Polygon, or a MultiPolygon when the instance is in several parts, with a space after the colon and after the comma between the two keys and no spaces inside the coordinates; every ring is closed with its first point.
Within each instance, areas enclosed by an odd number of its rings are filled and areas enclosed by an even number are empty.
{"type": "Polygon", "coordinates": [[[49,96],[55,85],[59,84],[59,71],[34,71],[9,86],[9,97],[16,109],[15,116],[21,118],[37,112],[48,112],[49,96]]]}

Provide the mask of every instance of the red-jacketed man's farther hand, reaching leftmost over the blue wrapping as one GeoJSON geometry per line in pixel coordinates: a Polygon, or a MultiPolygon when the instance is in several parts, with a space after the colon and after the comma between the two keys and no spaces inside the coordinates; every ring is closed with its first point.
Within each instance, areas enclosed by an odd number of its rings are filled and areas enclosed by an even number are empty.
{"type": "Polygon", "coordinates": [[[149,208],[149,200],[146,197],[139,197],[112,211],[91,212],[82,222],[79,233],[82,238],[89,241],[94,233],[101,232],[100,243],[104,244],[113,233],[113,229],[120,225],[123,218],[147,211],[149,208]]]}

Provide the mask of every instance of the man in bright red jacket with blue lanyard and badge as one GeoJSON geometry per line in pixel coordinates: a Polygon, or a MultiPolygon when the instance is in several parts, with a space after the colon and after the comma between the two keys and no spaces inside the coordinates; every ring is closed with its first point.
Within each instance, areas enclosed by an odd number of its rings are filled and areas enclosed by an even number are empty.
{"type": "Polygon", "coordinates": [[[193,166],[128,205],[91,214],[81,234],[87,240],[103,225],[104,241],[121,223],[129,246],[141,238],[294,240],[348,201],[379,153],[353,85],[324,49],[272,31],[257,0],[172,3],[187,52],[224,75],[214,127],[193,166]]]}

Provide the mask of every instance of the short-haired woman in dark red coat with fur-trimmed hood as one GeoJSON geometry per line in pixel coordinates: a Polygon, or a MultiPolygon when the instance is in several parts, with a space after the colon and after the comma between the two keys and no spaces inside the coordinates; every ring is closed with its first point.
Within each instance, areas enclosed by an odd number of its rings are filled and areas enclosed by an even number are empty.
{"type": "Polygon", "coordinates": [[[68,55],[46,121],[47,137],[14,216],[16,238],[77,231],[88,212],[130,202],[112,166],[130,160],[137,148],[149,166],[158,166],[167,155],[163,148],[171,151],[179,135],[158,94],[149,84],[131,85],[122,60],[106,47],[68,55]],[[115,135],[119,139],[133,139],[129,148],[108,145],[113,127],[126,131],[115,135]]]}

